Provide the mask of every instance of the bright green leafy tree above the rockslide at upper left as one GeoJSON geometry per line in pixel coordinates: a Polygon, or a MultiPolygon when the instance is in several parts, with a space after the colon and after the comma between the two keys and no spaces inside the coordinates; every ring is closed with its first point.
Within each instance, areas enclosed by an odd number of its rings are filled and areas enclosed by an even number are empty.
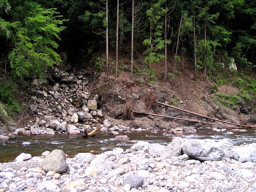
{"type": "Polygon", "coordinates": [[[60,40],[64,27],[59,27],[63,21],[56,14],[55,9],[44,10],[37,5],[34,16],[17,23],[16,43],[9,54],[14,76],[21,80],[32,76],[43,79],[45,69],[61,62],[54,49],[58,48],[56,40],[60,40]]]}

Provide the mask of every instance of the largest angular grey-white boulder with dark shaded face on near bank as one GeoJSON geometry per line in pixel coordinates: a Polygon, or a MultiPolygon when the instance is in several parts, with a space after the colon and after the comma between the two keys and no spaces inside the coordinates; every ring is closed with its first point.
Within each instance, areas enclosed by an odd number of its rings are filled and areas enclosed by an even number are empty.
{"type": "Polygon", "coordinates": [[[182,150],[184,154],[201,161],[219,161],[225,155],[224,150],[218,146],[218,143],[210,139],[186,140],[182,144],[182,150]]]}

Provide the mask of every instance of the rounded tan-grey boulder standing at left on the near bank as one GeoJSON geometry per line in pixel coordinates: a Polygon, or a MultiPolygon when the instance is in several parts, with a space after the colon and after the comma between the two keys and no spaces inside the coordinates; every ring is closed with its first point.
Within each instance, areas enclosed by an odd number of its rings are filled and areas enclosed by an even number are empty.
{"type": "Polygon", "coordinates": [[[66,155],[62,150],[53,150],[48,154],[41,164],[42,170],[45,172],[55,171],[56,173],[63,173],[68,170],[68,164],[66,163],[66,155]]]}

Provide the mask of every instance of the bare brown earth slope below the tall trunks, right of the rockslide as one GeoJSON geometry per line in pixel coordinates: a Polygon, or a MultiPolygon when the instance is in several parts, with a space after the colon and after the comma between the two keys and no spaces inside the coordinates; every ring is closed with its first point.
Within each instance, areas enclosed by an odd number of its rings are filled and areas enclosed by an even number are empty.
{"type": "MultiPolygon", "coordinates": [[[[126,103],[129,103],[133,110],[140,112],[157,113],[195,120],[201,119],[196,116],[184,114],[183,112],[168,112],[166,107],[160,105],[154,105],[152,109],[148,109],[145,105],[145,98],[152,96],[154,92],[159,102],[184,110],[212,118],[219,118],[228,122],[256,123],[254,94],[249,96],[247,93],[252,90],[245,91],[249,83],[246,82],[246,77],[248,76],[244,75],[244,72],[242,72],[242,75],[236,72],[235,75],[226,68],[219,69],[220,74],[217,77],[208,76],[208,79],[204,80],[203,70],[198,70],[197,79],[193,80],[194,63],[192,60],[184,58],[183,70],[182,62],[174,64],[172,60],[168,61],[167,81],[164,82],[164,62],[152,64],[149,69],[149,66],[144,63],[143,58],[144,56],[142,54],[135,54],[134,75],[133,79],[130,80],[130,59],[128,56],[126,54],[119,56],[118,77],[115,77],[115,54],[110,53],[110,75],[106,77],[104,72],[98,73],[99,82],[109,83],[94,91],[94,94],[100,95],[100,107],[104,114],[116,119],[116,121],[118,119],[121,120],[124,115],[124,106],[126,103]],[[150,70],[152,70],[151,74],[148,72],[150,70]],[[242,79],[240,76],[245,77],[242,80],[242,85],[237,82],[237,79],[242,79]]],[[[104,60],[98,58],[98,61],[101,62],[101,69],[103,69],[104,60]]],[[[254,74],[250,74],[250,76],[255,77],[254,74]]],[[[92,79],[95,80],[96,78],[92,79]]],[[[191,124],[179,120],[175,122],[173,121],[171,127],[195,125],[194,123],[191,124]]],[[[134,123],[131,121],[122,121],[122,124],[131,126],[134,123]]],[[[161,125],[158,126],[161,127],[161,125]]]]}

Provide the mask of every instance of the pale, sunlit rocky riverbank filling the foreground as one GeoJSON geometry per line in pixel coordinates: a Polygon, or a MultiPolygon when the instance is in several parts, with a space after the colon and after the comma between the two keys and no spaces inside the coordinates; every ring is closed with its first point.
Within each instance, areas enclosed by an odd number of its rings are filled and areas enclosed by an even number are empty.
{"type": "Polygon", "coordinates": [[[256,143],[233,146],[223,139],[168,144],[138,142],[130,149],[102,154],[62,150],[41,157],[21,154],[0,164],[0,191],[33,192],[253,192],[256,143]]]}

